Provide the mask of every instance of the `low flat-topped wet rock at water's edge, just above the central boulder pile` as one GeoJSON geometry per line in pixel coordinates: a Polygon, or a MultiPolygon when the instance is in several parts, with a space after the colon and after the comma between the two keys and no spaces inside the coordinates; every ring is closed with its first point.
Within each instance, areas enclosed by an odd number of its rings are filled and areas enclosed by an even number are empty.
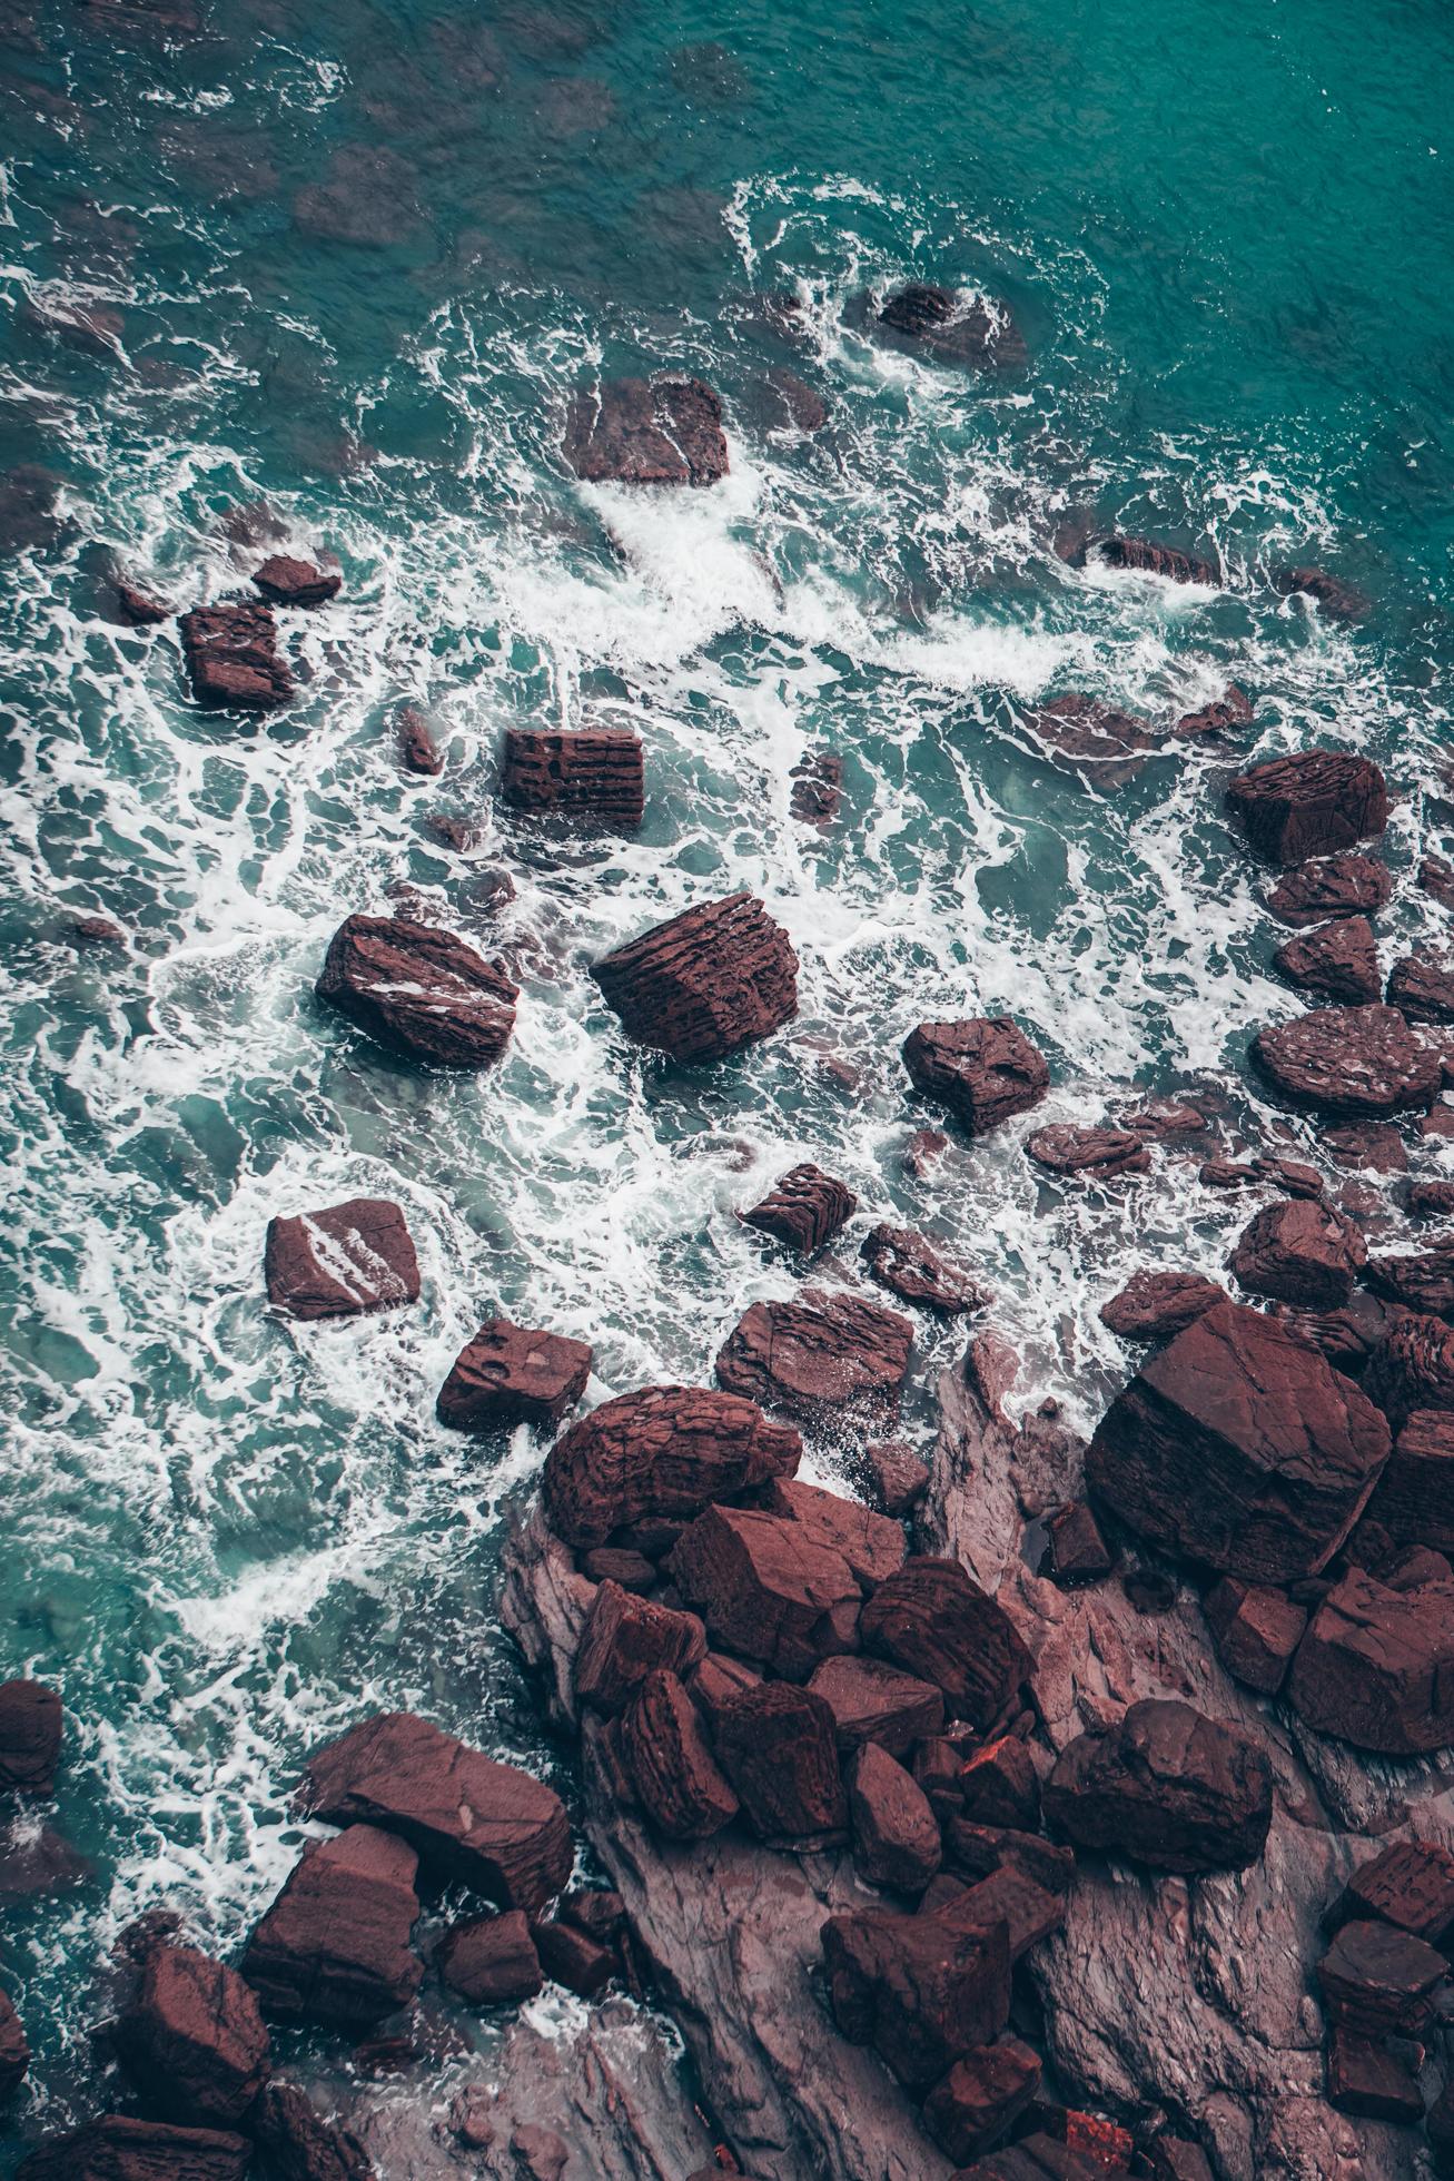
{"type": "Polygon", "coordinates": [[[909,1370],[913,1326],[844,1291],[754,1302],[717,1352],[728,1394],[815,1418],[824,1409],[889,1420],[909,1370]]]}

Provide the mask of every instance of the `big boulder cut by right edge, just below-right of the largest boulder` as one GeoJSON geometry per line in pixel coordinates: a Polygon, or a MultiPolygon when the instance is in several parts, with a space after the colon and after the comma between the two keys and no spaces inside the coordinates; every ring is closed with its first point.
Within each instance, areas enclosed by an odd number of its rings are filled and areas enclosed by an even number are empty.
{"type": "Polygon", "coordinates": [[[1328,1592],[1297,1647],[1288,1703],[1354,1749],[1454,1743],[1454,1581],[1391,1590],[1362,1568],[1328,1592]]]}

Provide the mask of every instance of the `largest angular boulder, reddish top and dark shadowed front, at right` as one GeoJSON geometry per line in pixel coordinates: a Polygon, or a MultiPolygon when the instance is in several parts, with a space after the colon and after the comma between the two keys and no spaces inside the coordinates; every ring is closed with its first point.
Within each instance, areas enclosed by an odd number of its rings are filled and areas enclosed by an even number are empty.
{"type": "Polygon", "coordinates": [[[1386,1459],[1389,1426],[1352,1378],[1275,1320],[1221,1302],[1116,1396],[1086,1477],[1158,1544],[1282,1583],[1325,1566],[1386,1459]]]}

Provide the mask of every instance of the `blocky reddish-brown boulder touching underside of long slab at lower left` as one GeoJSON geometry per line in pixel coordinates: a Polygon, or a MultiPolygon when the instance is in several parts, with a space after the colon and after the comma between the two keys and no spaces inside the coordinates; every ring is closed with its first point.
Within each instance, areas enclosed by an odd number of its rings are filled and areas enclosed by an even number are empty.
{"type": "Polygon", "coordinates": [[[377,1825],[310,1841],[249,1939],[242,1974],[277,2020],[371,2024],[414,1998],[419,1856],[377,1825]]]}

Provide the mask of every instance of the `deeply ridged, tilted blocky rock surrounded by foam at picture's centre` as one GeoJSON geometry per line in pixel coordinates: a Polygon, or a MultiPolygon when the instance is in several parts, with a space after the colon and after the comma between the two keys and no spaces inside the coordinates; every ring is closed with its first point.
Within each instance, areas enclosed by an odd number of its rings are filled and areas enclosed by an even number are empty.
{"type": "Polygon", "coordinates": [[[626,1034],[671,1060],[722,1060],[798,1012],[798,955],[752,894],[700,901],[591,971],[626,1034]]]}

